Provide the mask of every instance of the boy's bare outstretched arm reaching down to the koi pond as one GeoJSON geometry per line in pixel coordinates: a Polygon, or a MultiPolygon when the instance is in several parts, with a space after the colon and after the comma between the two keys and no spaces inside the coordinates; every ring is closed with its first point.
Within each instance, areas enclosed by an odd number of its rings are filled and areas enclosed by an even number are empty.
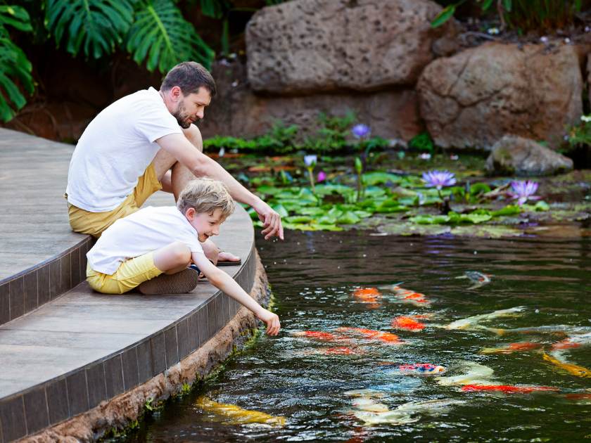
{"type": "Polygon", "coordinates": [[[277,335],[279,333],[281,324],[279,323],[279,316],[277,316],[277,314],[273,314],[268,309],[265,309],[258,304],[258,302],[254,300],[253,297],[250,297],[250,295],[248,295],[233,278],[215,267],[208,258],[205,257],[205,254],[193,252],[191,257],[193,263],[197,265],[212,285],[224,291],[224,293],[232,297],[236,302],[239,302],[250,309],[258,319],[265,322],[268,335],[277,335]]]}

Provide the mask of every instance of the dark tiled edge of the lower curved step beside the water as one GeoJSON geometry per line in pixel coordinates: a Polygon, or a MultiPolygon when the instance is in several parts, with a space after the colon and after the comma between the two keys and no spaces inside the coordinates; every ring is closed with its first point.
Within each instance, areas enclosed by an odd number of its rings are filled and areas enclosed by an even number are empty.
{"type": "MultiPolygon", "coordinates": [[[[258,257],[253,248],[234,275],[250,293],[258,257]]],[[[218,291],[182,319],[132,347],[0,399],[0,443],[33,435],[132,390],[196,351],[236,315],[241,304],[218,291]]]]}

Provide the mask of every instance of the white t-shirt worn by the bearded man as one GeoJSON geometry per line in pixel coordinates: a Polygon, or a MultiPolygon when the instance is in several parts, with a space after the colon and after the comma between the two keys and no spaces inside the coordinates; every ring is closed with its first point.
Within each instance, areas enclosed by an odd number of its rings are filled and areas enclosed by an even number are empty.
{"type": "Polygon", "coordinates": [[[68,202],[89,212],[114,210],[130,195],[160,149],[156,139],[182,134],[154,88],[109,105],[80,137],[68,171],[68,202]]]}

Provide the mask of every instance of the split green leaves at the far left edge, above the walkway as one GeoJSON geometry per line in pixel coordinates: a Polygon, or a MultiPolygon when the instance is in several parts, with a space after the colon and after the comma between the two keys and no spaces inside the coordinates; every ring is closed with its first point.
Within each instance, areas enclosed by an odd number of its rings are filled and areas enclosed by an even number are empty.
{"type": "Polygon", "coordinates": [[[34,91],[32,65],[8,35],[6,26],[31,31],[29,14],[20,6],[0,6],[0,120],[8,122],[27,100],[22,89],[34,91]]]}

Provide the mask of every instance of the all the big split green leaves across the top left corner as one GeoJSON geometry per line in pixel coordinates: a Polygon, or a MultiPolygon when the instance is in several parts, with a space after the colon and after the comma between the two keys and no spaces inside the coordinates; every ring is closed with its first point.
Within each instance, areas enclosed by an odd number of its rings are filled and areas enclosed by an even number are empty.
{"type": "MultiPolygon", "coordinates": [[[[148,70],[183,60],[210,67],[214,51],[184,19],[175,0],[0,0],[0,119],[11,120],[32,94],[32,65],[15,41],[55,41],[72,56],[105,58],[123,49],[148,70]],[[44,20],[39,20],[41,14],[44,20]],[[34,18],[32,23],[31,17],[34,18]],[[25,35],[18,34],[24,32],[25,35]]],[[[202,0],[204,13],[227,4],[202,0]]]]}

